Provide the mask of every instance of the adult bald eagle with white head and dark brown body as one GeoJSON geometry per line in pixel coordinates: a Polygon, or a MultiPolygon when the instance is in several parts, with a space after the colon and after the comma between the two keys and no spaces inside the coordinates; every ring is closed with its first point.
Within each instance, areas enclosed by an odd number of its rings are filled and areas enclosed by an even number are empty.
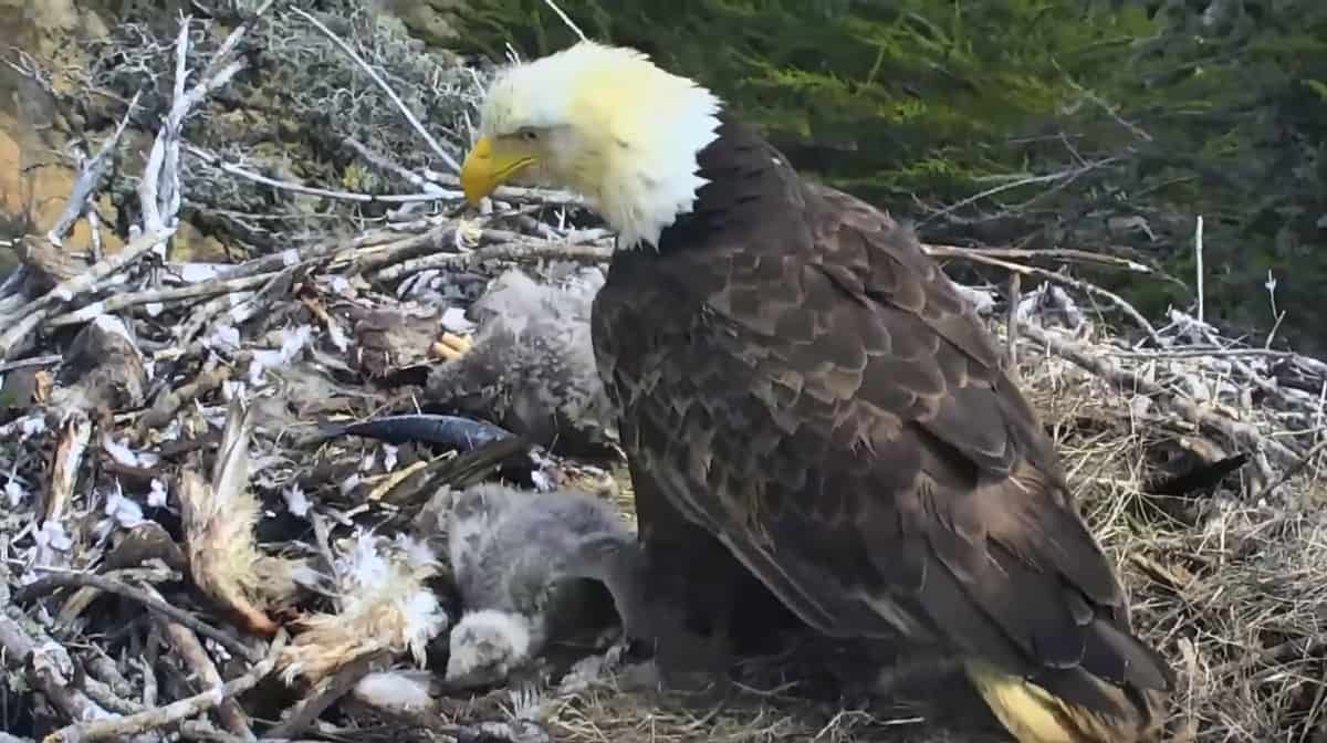
{"type": "Polygon", "coordinates": [[[633,49],[504,69],[479,129],[471,203],[555,186],[617,232],[592,340],[650,564],[715,600],[722,553],[820,633],[940,643],[1022,743],[1158,735],[1173,671],[910,230],[633,49]]]}

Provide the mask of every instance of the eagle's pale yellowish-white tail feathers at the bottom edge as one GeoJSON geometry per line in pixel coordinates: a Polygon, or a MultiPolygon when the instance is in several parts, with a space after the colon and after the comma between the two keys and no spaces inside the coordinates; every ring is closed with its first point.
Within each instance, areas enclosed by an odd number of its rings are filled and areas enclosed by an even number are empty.
{"type": "Polygon", "coordinates": [[[1162,720],[1156,693],[1135,694],[1079,670],[1116,702],[1116,714],[1107,714],[1066,702],[981,659],[963,659],[963,670],[995,719],[1019,743],[1152,743],[1158,739],[1162,720]]]}

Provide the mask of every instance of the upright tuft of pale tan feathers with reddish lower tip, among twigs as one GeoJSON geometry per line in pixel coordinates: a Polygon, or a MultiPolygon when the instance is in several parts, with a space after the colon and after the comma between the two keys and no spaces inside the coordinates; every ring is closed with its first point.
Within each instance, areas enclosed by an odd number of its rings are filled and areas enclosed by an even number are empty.
{"type": "Polygon", "coordinates": [[[304,560],[257,547],[253,529],[261,504],[248,487],[252,433],[253,409],[234,399],[211,483],[183,468],[179,502],[194,584],[234,610],[251,632],[272,636],[277,624],[269,614],[289,605],[299,586],[311,582],[312,571],[304,560]]]}

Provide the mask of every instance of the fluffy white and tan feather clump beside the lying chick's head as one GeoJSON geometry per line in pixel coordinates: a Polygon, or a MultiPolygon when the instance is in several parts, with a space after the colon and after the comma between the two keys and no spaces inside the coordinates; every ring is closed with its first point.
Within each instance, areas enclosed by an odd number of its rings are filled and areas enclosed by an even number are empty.
{"type": "Polygon", "coordinates": [[[301,618],[303,632],[281,654],[287,683],[303,675],[316,685],[378,651],[410,653],[422,667],[425,646],[447,628],[447,613],[425,585],[439,568],[427,545],[362,531],[349,541],[334,565],[336,612],[301,618]]]}

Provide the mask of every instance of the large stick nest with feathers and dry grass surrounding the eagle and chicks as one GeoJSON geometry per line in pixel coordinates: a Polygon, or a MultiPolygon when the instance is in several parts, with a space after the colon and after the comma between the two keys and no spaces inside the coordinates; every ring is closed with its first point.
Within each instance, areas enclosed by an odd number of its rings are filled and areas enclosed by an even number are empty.
{"type": "MultiPolygon", "coordinates": [[[[253,12],[228,23],[127,24],[60,86],[119,90],[107,100],[125,106],[84,117],[105,125],[101,145],[0,288],[5,735],[1003,739],[979,705],[938,706],[951,682],[849,701],[787,667],[722,701],[661,693],[598,655],[541,689],[439,690],[456,606],[429,556],[433,494],[573,483],[629,519],[630,483],[618,460],[519,438],[439,448],[344,435],[360,430],[345,422],[415,410],[430,370],[470,350],[467,310],[503,272],[602,264],[609,237],[567,194],[508,188],[491,211],[463,207],[442,171],[487,72],[421,57],[378,16],[242,5],[253,12]],[[311,65],[326,85],[299,85],[311,65]],[[194,72],[175,85],[176,69],[194,72]],[[271,109],[273,86],[316,118],[295,169],[244,138],[252,122],[235,126],[236,110],[271,109]],[[317,118],[329,101],[349,103],[317,118]],[[421,107],[437,115],[421,122],[421,107]],[[134,138],[147,157],[119,163],[134,138]],[[66,244],[76,223],[88,245],[66,244]],[[167,249],[184,226],[226,255],[167,249]],[[385,581],[397,590],[365,589],[385,581]]],[[[966,291],[1009,344],[1136,625],[1180,673],[1176,739],[1323,735],[1327,365],[1181,312],[1153,325],[1046,268],[1072,267],[1072,251],[928,249],[1044,281],[1009,300],[966,291]],[[1089,317],[1084,299],[1104,309],[1089,317]]]]}

